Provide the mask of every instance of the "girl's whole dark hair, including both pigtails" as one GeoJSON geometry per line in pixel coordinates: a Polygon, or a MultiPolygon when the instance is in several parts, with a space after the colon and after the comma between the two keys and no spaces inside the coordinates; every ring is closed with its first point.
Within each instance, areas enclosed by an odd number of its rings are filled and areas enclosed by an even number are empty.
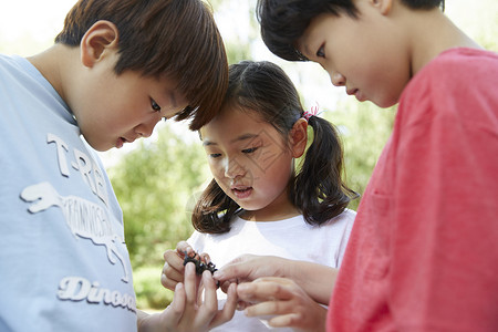
{"type": "MultiPolygon", "coordinates": [[[[236,105],[253,112],[288,139],[294,123],[303,116],[303,107],[292,81],[278,65],[242,61],[229,68],[228,92],[224,105],[236,105]]],[[[311,116],[313,141],[302,167],[290,179],[290,201],[310,225],[321,225],[340,215],[359,195],[342,179],[342,144],[334,126],[324,118],[311,116]]],[[[201,232],[219,234],[230,229],[230,220],[240,207],[215,179],[196,204],[191,221],[201,232]]]]}

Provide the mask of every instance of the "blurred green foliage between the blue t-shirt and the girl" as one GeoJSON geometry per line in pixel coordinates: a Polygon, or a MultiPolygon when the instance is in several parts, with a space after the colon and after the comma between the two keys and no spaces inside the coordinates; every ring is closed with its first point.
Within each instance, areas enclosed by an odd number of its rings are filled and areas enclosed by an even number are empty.
{"type": "Polygon", "coordinates": [[[108,169],[134,269],[162,263],[166,249],[190,236],[187,204],[209,177],[200,143],[186,142],[170,125],[176,124],[163,126],[156,142],[142,141],[108,169]]]}

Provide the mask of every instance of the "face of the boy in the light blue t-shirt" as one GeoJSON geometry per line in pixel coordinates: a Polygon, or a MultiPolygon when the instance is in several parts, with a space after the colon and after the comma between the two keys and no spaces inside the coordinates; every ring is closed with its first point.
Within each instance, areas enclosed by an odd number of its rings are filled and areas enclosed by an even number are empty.
{"type": "Polygon", "coordinates": [[[188,105],[175,89],[176,82],[133,71],[116,75],[114,64],[103,61],[93,66],[75,106],[70,105],[83,136],[97,151],[148,137],[162,118],[170,118],[188,105]]]}

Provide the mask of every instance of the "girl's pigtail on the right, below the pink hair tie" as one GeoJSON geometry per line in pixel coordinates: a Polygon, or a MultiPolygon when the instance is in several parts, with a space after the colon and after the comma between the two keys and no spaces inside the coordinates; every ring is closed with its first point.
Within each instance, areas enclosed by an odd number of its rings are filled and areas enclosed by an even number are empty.
{"type": "Polygon", "coordinates": [[[308,124],[313,128],[313,142],[297,174],[291,198],[310,225],[321,225],[339,216],[359,194],[342,180],[342,144],[333,125],[318,116],[308,124]]]}

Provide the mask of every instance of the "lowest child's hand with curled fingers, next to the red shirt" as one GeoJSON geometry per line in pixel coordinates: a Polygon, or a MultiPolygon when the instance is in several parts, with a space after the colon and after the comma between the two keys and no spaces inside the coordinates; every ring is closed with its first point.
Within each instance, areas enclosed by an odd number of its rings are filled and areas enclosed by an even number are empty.
{"type": "Polygon", "coordinates": [[[269,277],[240,283],[237,294],[242,303],[251,303],[245,310],[247,317],[263,317],[272,328],[325,331],[326,308],[291,279],[269,277]]]}

